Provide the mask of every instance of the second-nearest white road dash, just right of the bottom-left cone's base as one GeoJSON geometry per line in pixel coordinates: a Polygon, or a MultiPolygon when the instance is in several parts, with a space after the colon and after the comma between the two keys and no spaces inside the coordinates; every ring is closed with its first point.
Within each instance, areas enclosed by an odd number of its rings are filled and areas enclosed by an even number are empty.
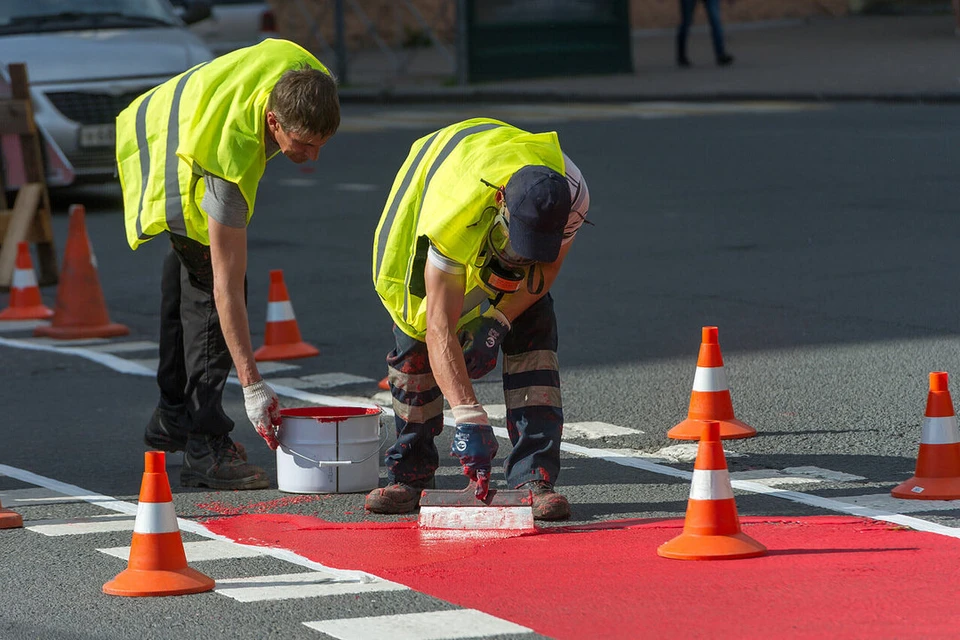
{"type": "MultiPolygon", "coordinates": [[[[189,559],[189,556],[187,556],[189,559]]],[[[239,602],[258,602],[264,600],[289,600],[293,598],[316,598],[326,596],[353,595],[376,591],[409,591],[408,587],[396,582],[376,580],[374,582],[344,581],[331,573],[309,571],[275,576],[255,576],[252,578],[226,578],[217,580],[215,591],[239,602]]]]}

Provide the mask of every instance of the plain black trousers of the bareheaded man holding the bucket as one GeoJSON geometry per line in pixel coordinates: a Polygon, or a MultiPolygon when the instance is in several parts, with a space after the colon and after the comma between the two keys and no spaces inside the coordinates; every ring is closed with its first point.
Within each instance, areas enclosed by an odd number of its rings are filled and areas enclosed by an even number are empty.
{"type": "Polygon", "coordinates": [[[160,281],[160,410],[188,433],[226,435],[233,420],[223,411],[223,387],[233,360],[213,299],[210,247],[168,235],[172,250],[160,281]]]}

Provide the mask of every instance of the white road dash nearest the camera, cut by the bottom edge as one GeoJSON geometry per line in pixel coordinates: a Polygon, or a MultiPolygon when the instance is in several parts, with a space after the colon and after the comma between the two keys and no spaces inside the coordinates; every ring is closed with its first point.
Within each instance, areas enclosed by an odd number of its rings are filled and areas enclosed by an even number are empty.
{"type": "Polygon", "coordinates": [[[367,640],[368,638],[453,640],[533,633],[531,629],[494,618],[475,609],[404,613],[369,618],[341,618],[303,624],[338,640],[367,640]]]}

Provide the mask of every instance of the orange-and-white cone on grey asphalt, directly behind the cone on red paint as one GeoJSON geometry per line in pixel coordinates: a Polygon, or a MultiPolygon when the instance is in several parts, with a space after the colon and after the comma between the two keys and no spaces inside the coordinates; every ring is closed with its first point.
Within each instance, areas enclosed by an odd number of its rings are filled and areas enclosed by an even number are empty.
{"type": "Polygon", "coordinates": [[[696,440],[700,437],[704,420],[720,423],[720,438],[750,438],[757,430],[733,417],[733,403],[727,388],[727,374],[723,370],[723,356],[717,341],[717,328],[704,327],[697,358],[697,373],[690,393],[687,419],[667,432],[675,440],[696,440]]]}

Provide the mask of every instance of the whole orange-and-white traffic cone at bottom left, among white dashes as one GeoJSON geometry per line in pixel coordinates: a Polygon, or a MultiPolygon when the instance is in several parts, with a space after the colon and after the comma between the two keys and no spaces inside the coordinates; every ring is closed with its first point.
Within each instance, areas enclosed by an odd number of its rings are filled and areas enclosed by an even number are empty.
{"type": "Polygon", "coordinates": [[[127,568],[103,585],[112,596],[179,596],[214,587],[213,578],[187,566],[165,454],[147,451],[127,568]]]}

